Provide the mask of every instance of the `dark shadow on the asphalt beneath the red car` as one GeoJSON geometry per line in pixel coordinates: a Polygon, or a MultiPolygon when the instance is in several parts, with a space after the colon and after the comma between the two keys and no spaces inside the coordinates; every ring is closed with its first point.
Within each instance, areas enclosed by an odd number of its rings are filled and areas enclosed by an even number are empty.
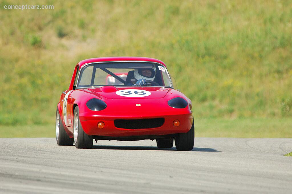
{"type": "MultiPolygon", "coordinates": [[[[102,150],[165,150],[165,151],[176,151],[173,148],[157,148],[156,146],[96,146],[94,145],[92,149],[102,149],[102,150]]],[[[220,152],[214,148],[193,148],[191,151],[197,152],[220,152]]]]}

